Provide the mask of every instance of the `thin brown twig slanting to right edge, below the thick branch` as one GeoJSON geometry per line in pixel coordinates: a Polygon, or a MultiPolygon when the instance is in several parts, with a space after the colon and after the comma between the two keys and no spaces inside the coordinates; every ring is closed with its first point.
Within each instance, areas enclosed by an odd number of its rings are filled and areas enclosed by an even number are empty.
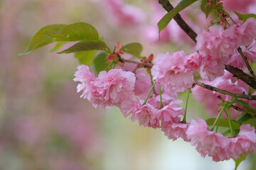
{"type": "Polygon", "coordinates": [[[208,89],[210,91],[216,91],[216,92],[218,92],[220,94],[229,95],[229,96],[233,96],[234,95],[237,98],[245,98],[247,100],[256,100],[256,96],[247,96],[245,94],[235,94],[235,93],[232,93],[230,91],[225,91],[225,90],[221,90],[221,89],[215,88],[214,86],[210,86],[208,84],[203,84],[203,83],[201,83],[199,81],[196,81],[195,84],[198,85],[198,86],[203,87],[204,89],[208,89]]]}

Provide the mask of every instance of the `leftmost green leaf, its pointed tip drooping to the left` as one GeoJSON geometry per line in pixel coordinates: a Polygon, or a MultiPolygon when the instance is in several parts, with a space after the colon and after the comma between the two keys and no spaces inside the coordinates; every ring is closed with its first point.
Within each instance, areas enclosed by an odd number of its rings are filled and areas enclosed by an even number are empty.
{"type": "Polygon", "coordinates": [[[33,36],[31,42],[29,43],[28,50],[22,52],[18,55],[26,55],[32,50],[37,49],[38,47],[42,47],[43,45],[48,45],[50,42],[53,42],[53,38],[50,38],[46,35],[47,32],[58,32],[60,28],[63,28],[63,24],[54,24],[50,26],[45,26],[38,30],[38,32],[33,36]]]}

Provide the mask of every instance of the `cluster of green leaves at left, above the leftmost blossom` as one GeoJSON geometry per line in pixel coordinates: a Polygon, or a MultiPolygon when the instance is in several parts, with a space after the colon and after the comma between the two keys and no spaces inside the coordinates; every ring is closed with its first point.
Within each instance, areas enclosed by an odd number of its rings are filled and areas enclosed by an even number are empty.
{"type": "MultiPolygon", "coordinates": [[[[41,28],[33,36],[28,45],[28,49],[19,55],[26,55],[51,42],[56,42],[56,44],[50,52],[60,50],[60,48],[68,42],[77,42],[75,45],[58,52],[58,54],[74,53],[75,59],[77,59],[80,64],[93,64],[97,72],[106,69],[108,66],[107,56],[112,54],[110,47],[108,47],[107,43],[100,37],[96,28],[89,23],[80,22],[70,25],[53,24],[41,28]],[[104,52],[97,55],[98,51],[104,52]]],[[[141,58],[142,45],[138,42],[132,42],[124,45],[121,51],[141,58]]]]}

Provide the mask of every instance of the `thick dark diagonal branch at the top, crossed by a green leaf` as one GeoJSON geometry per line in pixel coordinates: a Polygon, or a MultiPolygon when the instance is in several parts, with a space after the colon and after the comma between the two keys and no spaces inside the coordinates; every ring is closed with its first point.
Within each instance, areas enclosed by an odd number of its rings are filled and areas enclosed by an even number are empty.
{"type": "MultiPolygon", "coordinates": [[[[174,8],[174,6],[172,6],[168,0],[159,0],[159,4],[161,4],[161,6],[163,6],[163,8],[167,12],[171,11],[174,8]]],[[[185,33],[193,40],[193,42],[196,42],[197,34],[195,33],[194,30],[192,30],[190,26],[188,26],[188,24],[183,20],[183,18],[181,18],[181,15],[179,13],[176,16],[174,16],[174,20],[176,21],[176,23],[178,23],[178,26],[183,31],[185,31],[185,33]]]]}

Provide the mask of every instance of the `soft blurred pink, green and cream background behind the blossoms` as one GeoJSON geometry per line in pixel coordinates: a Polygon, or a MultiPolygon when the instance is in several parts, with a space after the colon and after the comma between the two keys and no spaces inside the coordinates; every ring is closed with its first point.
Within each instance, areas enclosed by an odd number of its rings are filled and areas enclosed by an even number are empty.
{"type": "MultiPolygon", "coordinates": [[[[198,6],[181,13],[196,32],[210,22],[198,6]]],[[[255,4],[240,10],[255,12],[255,4]]],[[[49,52],[53,44],[17,55],[43,26],[75,22],[95,26],[111,47],[140,42],[144,56],[193,52],[174,21],[159,41],[156,23],[165,13],[154,0],[0,0],[0,170],[234,169],[233,160],[203,159],[190,143],[139,127],[119,108],[93,108],[76,93],[77,60],[49,52]]],[[[190,98],[188,120],[199,116],[208,118],[190,98]]],[[[238,169],[256,169],[255,157],[238,169]]]]}

